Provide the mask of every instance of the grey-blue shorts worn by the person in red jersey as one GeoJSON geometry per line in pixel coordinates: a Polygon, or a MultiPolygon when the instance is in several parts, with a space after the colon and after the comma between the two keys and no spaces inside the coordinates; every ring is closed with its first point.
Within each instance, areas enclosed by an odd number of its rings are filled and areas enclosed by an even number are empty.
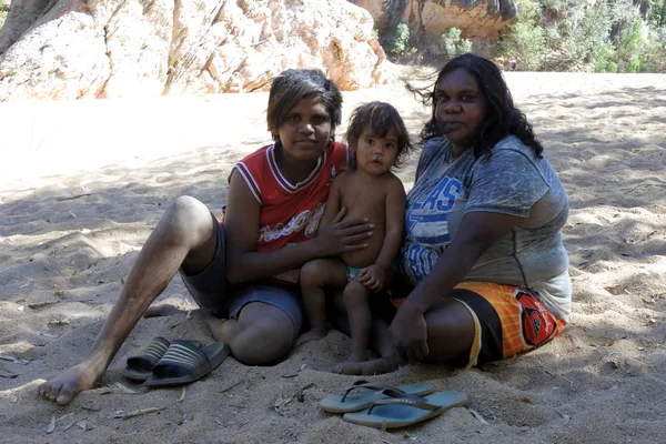
{"type": "Polygon", "coordinates": [[[215,316],[226,319],[239,319],[241,310],[251,302],[269,304],[291,317],[294,334],[297,335],[303,327],[303,305],[299,287],[264,281],[230,284],[224,266],[224,228],[212,213],[211,215],[218,230],[218,246],[213,261],[195,275],[188,275],[180,270],[183,283],[196,304],[215,316]]]}

